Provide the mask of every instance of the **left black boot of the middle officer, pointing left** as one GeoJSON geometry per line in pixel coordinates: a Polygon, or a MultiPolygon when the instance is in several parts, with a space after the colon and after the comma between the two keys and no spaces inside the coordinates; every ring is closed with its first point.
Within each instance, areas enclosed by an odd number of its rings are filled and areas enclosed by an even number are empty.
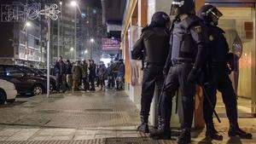
{"type": "Polygon", "coordinates": [[[154,140],[170,140],[170,120],[160,120],[160,126],[157,131],[150,133],[149,135],[154,140]]]}

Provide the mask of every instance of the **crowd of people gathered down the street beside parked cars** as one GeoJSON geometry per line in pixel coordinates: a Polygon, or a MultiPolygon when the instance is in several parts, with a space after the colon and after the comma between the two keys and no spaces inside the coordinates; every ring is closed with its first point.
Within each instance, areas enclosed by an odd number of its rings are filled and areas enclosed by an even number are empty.
{"type": "Polygon", "coordinates": [[[56,61],[54,72],[56,76],[57,92],[67,90],[96,91],[105,89],[124,89],[125,64],[124,60],[108,63],[105,66],[103,61],[96,65],[94,60],[77,60],[74,63],[70,60],[64,62],[62,57],[56,61]],[[108,85],[105,82],[108,81],[108,85]],[[107,87],[106,87],[107,86],[107,87]]]}

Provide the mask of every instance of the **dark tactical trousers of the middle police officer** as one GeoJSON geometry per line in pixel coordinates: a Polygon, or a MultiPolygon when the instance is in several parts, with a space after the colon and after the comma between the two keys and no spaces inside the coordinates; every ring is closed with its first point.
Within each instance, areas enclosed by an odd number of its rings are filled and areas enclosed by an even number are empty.
{"type": "Polygon", "coordinates": [[[162,94],[160,95],[159,106],[161,117],[166,122],[170,122],[172,115],[172,98],[180,87],[183,102],[183,128],[185,129],[191,128],[194,113],[195,82],[187,82],[192,67],[192,64],[178,64],[172,66],[166,77],[162,94]]]}

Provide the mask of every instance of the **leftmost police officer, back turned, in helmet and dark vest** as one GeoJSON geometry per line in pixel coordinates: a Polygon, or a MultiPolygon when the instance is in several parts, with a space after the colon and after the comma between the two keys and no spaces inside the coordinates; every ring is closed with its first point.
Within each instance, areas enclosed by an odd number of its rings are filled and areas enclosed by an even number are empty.
{"type": "Polygon", "coordinates": [[[141,37],[132,48],[133,60],[144,61],[143,87],[141,98],[141,122],[137,130],[148,133],[148,115],[150,104],[154,96],[154,87],[158,92],[164,83],[163,68],[169,51],[169,39],[171,22],[164,12],[156,12],[149,26],[143,28],[141,37]]]}

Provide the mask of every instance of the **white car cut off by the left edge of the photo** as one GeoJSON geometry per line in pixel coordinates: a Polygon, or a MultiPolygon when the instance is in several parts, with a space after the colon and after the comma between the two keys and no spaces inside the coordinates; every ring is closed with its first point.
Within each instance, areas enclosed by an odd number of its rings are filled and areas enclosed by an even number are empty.
{"type": "Polygon", "coordinates": [[[14,102],[16,96],[17,90],[15,89],[15,84],[0,79],[0,105],[3,105],[5,101],[14,102]]]}

